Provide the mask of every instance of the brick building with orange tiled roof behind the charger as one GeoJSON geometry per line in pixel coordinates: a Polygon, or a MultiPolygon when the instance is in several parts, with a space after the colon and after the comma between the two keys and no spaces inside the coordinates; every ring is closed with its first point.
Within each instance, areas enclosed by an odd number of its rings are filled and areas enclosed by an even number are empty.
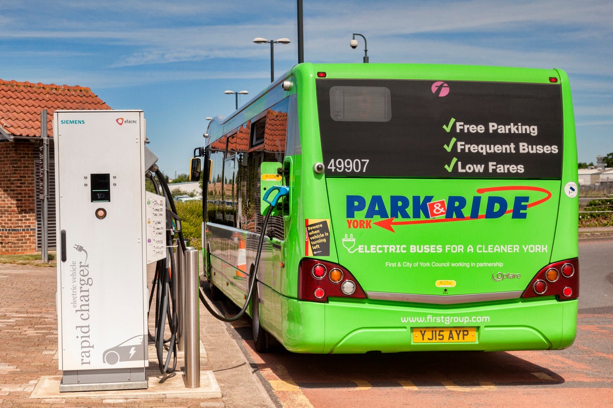
{"type": "Polygon", "coordinates": [[[0,80],[0,254],[40,250],[43,183],[41,111],[49,139],[49,248],[55,249],[53,112],[110,109],[91,89],[0,80]]]}

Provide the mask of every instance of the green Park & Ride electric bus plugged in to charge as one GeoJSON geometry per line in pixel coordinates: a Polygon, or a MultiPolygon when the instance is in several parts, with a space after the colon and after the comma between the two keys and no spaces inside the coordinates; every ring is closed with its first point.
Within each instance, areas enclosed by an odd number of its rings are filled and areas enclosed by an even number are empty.
{"type": "Polygon", "coordinates": [[[205,138],[205,275],[240,306],[257,279],[257,351],[269,336],[303,353],[573,343],[577,154],[562,70],[299,64],[205,138]],[[281,185],[262,231],[263,198],[281,185]]]}

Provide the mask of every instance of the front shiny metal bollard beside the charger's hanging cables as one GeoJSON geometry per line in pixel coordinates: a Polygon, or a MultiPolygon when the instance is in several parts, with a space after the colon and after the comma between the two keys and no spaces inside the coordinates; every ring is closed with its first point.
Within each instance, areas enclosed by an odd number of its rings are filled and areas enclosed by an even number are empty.
{"type": "Polygon", "coordinates": [[[198,297],[198,251],[185,252],[185,385],[200,387],[200,303],[198,297]]]}

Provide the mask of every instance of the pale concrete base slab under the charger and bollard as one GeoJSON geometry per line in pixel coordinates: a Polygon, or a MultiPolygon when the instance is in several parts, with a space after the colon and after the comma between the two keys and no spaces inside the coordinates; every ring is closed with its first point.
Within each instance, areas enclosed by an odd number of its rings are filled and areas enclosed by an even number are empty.
{"type": "Polygon", "coordinates": [[[221,398],[213,371],[200,371],[200,387],[186,388],[185,375],[176,371],[162,376],[147,372],[145,390],[59,392],[62,376],[40,377],[29,398],[221,398]]]}

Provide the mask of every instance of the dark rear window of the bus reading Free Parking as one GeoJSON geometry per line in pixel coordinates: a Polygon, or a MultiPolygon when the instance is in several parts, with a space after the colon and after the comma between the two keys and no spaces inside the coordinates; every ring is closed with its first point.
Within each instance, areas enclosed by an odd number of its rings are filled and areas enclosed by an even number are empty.
{"type": "Polygon", "coordinates": [[[562,176],[560,84],[320,79],[316,87],[327,176],[562,176]]]}

